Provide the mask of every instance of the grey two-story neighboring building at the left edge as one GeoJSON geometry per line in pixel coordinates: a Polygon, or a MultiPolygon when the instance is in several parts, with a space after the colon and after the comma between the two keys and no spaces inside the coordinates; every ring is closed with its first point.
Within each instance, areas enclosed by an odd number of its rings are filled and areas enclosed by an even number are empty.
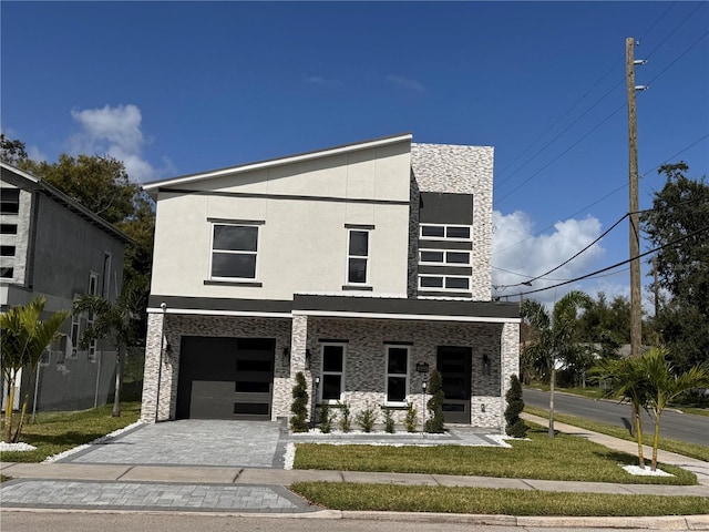
{"type": "MultiPolygon", "coordinates": [[[[41,178],[6,163],[0,166],[1,310],[27,305],[38,295],[47,298],[48,314],[71,310],[80,294],[114,300],[130,239],[41,178]]],[[[70,317],[64,323],[64,336],[40,364],[30,408],[78,410],[106,402],[114,386],[115,351],[110,341],[79,347],[91,318],[70,317]]],[[[22,376],[18,398],[24,396],[29,377],[22,376]]]]}

